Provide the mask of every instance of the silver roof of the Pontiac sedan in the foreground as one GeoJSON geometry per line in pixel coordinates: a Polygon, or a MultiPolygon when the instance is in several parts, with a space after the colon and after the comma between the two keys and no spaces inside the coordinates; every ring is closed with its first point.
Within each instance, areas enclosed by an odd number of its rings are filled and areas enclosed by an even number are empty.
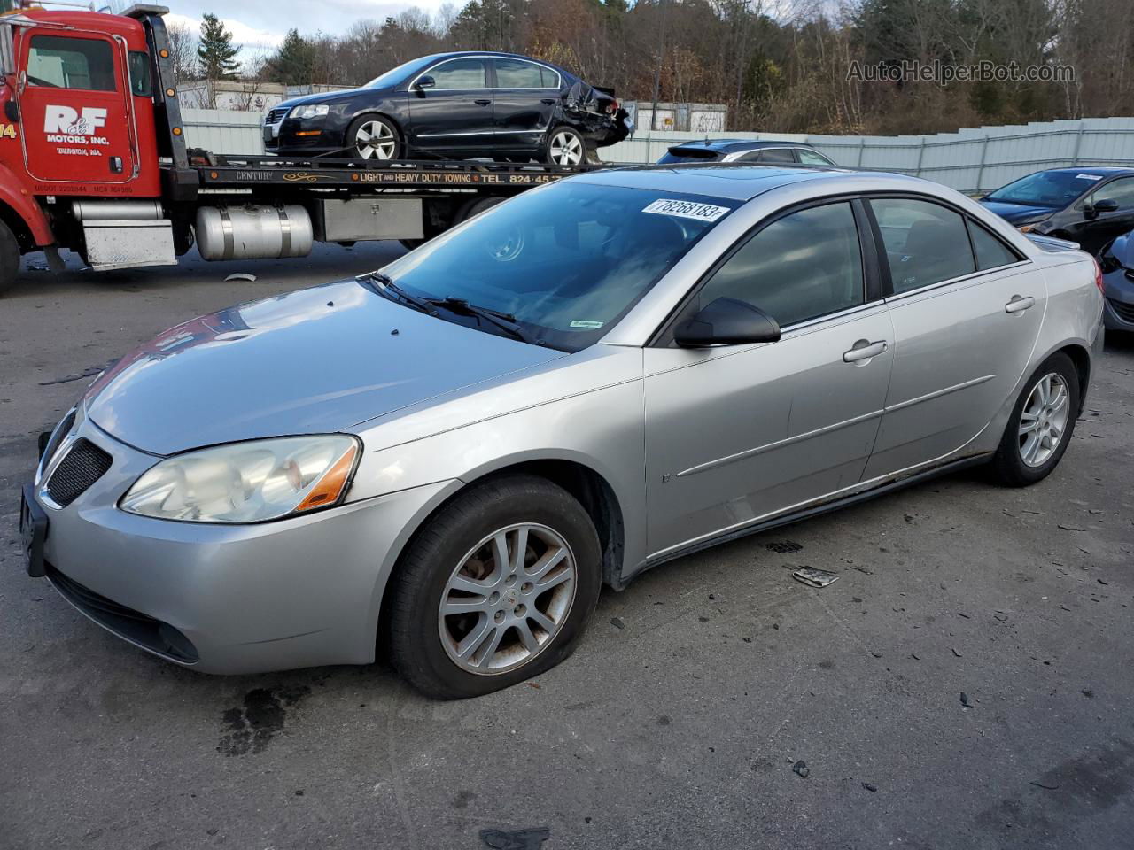
{"type": "MultiPolygon", "coordinates": [[[[798,182],[829,178],[878,177],[886,181],[912,181],[919,187],[937,186],[928,180],[879,171],[820,167],[761,165],[750,162],[667,163],[633,165],[602,171],[586,171],[568,178],[572,181],[627,188],[679,192],[686,195],[705,195],[729,201],[751,201],[756,195],[798,182]]],[[[892,187],[887,187],[892,188],[892,187]]],[[[909,188],[906,186],[905,188],[909,188]]]]}

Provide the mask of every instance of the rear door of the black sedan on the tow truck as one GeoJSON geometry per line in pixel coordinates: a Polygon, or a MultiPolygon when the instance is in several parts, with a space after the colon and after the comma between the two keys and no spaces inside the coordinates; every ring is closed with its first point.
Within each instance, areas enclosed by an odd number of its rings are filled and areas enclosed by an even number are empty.
{"type": "Polygon", "coordinates": [[[553,68],[524,59],[497,57],[493,62],[496,145],[535,151],[551,129],[560,101],[560,75],[553,68]]]}

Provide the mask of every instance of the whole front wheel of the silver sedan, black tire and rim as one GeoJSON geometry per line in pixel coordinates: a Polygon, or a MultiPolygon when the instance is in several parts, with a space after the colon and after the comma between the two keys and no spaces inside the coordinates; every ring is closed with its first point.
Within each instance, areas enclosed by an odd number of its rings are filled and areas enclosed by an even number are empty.
{"type": "Polygon", "coordinates": [[[390,661],[437,699],[508,688],[572,654],[601,581],[599,536],[567,491],[531,475],[474,485],[425,524],[398,562],[387,609],[390,661]],[[501,536],[502,568],[494,554],[501,536]],[[526,545],[517,568],[513,559],[521,539],[526,545]],[[549,563],[542,579],[531,569],[549,563]],[[549,589],[535,583],[548,583],[549,589]],[[442,603],[457,612],[442,615],[442,603]],[[536,614],[552,628],[542,628],[536,614]]]}

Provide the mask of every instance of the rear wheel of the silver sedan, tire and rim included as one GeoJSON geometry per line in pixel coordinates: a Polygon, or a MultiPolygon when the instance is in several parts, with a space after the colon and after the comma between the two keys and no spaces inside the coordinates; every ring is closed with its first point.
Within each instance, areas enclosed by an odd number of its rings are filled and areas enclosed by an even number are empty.
{"type": "Polygon", "coordinates": [[[990,465],[992,479],[1004,486],[1024,487],[1047,478],[1070,444],[1078,399],[1078,372],[1067,355],[1057,352],[1041,363],[1012,408],[990,465]],[[1049,397],[1047,402],[1044,394],[1049,397]],[[1022,433],[1033,423],[1033,428],[1022,433]]]}

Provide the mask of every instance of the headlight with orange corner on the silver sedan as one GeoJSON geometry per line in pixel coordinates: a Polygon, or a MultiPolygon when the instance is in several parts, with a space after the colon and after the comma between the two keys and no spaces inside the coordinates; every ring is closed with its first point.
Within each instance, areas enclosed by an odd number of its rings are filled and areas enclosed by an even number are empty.
{"type": "Polygon", "coordinates": [[[345,434],[289,436],[176,454],[122,496],[130,513],[191,522],[259,522],[337,504],[358,458],[345,434]]]}

